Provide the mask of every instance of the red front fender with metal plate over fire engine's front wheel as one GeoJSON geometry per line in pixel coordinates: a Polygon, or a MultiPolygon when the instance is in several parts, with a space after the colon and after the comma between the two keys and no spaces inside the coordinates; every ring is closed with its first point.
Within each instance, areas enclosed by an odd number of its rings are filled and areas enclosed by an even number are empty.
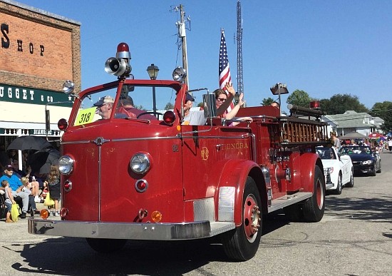
{"type": "Polygon", "coordinates": [[[266,203],[265,182],[259,165],[252,160],[227,160],[222,167],[218,189],[215,193],[218,221],[234,221],[235,225],[241,225],[242,198],[248,176],[254,179],[262,201],[266,203]]]}

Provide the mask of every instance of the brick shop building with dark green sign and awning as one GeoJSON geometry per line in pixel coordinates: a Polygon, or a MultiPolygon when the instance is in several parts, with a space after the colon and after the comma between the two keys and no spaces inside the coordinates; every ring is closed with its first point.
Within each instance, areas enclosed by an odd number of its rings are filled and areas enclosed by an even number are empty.
{"type": "Polygon", "coordinates": [[[80,27],[72,19],[0,0],[0,144],[24,135],[59,140],[57,122],[68,119],[72,103],[61,92],[64,81],[81,91],[80,27]]]}

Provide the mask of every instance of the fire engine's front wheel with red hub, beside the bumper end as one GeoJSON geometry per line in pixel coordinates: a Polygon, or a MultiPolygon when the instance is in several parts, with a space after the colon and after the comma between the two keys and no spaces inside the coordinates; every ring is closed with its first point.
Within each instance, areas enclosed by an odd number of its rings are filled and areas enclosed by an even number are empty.
{"type": "Polygon", "coordinates": [[[239,261],[254,257],[262,237],[262,201],[253,178],[245,183],[242,206],[242,225],[222,234],[227,257],[239,261]]]}

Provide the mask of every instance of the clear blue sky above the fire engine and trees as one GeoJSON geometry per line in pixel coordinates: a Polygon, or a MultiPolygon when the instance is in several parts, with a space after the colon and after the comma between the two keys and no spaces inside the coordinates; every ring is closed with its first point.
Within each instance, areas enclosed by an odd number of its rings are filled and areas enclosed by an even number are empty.
{"type": "MultiPolygon", "coordinates": [[[[219,86],[220,29],[225,29],[234,87],[237,88],[237,0],[75,1],[19,0],[81,22],[82,88],[115,80],[104,71],[118,43],[127,42],[135,78],[147,66],[170,78],[182,65],[172,10],[182,4],[190,16],[187,54],[190,88],[219,86]]],[[[312,98],[337,93],[358,96],[367,108],[392,101],[392,1],[242,0],[244,98],[258,106],[275,98],[274,83],[287,83],[312,98]]],[[[196,95],[197,96],[197,95],[196,95]]],[[[282,96],[282,103],[287,100],[282,96]]],[[[201,101],[197,96],[197,101],[201,101]]],[[[285,106],[286,104],[284,104],[285,106]]]]}

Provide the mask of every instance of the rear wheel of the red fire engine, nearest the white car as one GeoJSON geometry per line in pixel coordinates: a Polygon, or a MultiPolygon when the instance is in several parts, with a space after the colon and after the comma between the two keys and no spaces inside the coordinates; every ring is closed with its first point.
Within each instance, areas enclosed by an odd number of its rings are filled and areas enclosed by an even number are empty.
{"type": "Polygon", "coordinates": [[[325,183],[324,175],[319,166],[314,168],[314,189],[311,198],[304,203],[304,220],[317,223],[323,218],[325,209],[325,183]]]}

